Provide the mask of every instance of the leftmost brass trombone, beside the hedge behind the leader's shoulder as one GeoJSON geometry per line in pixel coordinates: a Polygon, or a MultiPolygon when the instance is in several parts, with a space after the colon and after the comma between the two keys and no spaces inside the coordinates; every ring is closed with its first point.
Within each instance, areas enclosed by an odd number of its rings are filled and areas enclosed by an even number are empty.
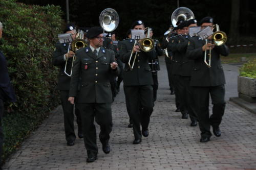
{"type": "MultiPolygon", "coordinates": [[[[68,53],[69,54],[69,51],[73,51],[74,53],[79,50],[80,48],[83,48],[83,47],[87,47],[87,43],[86,43],[86,40],[84,40],[84,33],[82,30],[78,30],[78,33],[76,34],[76,39],[73,40],[72,42],[69,43],[69,50],[68,50],[68,53]]],[[[69,77],[72,76],[72,68],[73,68],[73,65],[74,65],[74,61],[76,60],[76,55],[74,55],[72,57],[72,65],[71,65],[71,71],[70,71],[70,74],[68,74],[67,72],[67,64],[68,64],[68,59],[66,59],[66,64],[65,64],[65,68],[64,68],[64,72],[66,75],[68,75],[69,77]]]]}

